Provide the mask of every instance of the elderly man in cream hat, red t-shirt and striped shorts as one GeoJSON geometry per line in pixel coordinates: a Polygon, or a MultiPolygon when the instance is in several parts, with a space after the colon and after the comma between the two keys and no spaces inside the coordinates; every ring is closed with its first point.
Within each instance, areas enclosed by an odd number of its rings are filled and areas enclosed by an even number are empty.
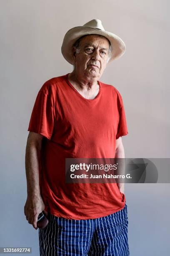
{"type": "Polygon", "coordinates": [[[66,158],[124,158],[127,135],[122,97],[100,82],[107,63],[125,44],[100,20],[70,29],[62,43],[74,70],[45,82],[29,123],[25,155],[25,216],[39,229],[41,256],[128,256],[128,213],[123,184],[65,182],[66,158]]]}

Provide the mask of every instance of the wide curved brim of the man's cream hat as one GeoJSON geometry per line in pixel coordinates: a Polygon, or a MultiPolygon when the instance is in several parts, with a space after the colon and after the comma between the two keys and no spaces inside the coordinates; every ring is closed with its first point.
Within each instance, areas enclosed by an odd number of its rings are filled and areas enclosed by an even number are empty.
{"type": "Polygon", "coordinates": [[[97,28],[91,28],[87,26],[78,26],[75,28],[71,28],[69,31],[67,31],[61,46],[62,55],[70,64],[74,63],[73,57],[72,57],[72,46],[74,45],[75,41],[77,41],[77,39],[80,38],[81,36],[90,35],[90,34],[104,36],[110,41],[110,44],[112,47],[112,54],[109,62],[120,58],[125,53],[125,50],[126,50],[125,43],[122,41],[122,39],[119,36],[113,33],[110,33],[108,31],[99,30],[97,28]]]}

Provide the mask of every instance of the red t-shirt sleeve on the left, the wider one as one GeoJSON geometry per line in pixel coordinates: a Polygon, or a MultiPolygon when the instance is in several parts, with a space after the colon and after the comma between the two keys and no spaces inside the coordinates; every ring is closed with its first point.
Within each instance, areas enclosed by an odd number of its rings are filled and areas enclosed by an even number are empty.
{"type": "Polygon", "coordinates": [[[40,133],[50,140],[54,128],[54,113],[50,94],[40,90],[37,94],[28,131],[40,133]]]}

